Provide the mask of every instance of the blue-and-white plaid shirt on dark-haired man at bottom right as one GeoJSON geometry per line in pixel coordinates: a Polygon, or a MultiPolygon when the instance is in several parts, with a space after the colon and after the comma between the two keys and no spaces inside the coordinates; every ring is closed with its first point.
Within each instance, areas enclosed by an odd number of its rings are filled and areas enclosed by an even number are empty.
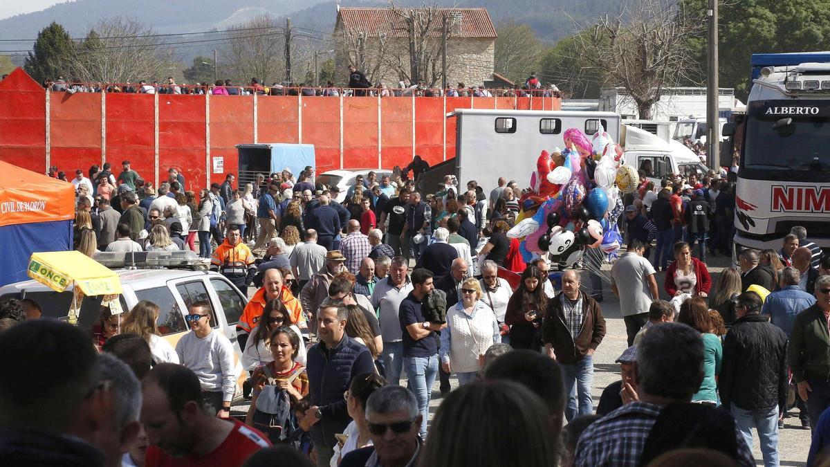
{"type": "MultiPolygon", "coordinates": [[[[576,467],[637,467],[662,406],[632,402],[614,410],[583,431],[576,446],[576,467]]],[[[738,465],[753,467],[752,451],[744,437],[735,430],[738,444],[738,465]]]]}

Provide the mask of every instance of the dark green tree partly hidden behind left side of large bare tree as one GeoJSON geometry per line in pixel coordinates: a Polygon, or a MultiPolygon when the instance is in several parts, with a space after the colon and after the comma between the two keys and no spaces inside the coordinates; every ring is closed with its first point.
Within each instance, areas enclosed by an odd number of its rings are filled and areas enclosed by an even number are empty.
{"type": "Polygon", "coordinates": [[[555,84],[569,99],[596,99],[603,86],[602,70],[584,61],[587,52],[578,37],[584,34],[559,39],[540,54],[536,66],[536,76],[544,83],[555,84]]]}

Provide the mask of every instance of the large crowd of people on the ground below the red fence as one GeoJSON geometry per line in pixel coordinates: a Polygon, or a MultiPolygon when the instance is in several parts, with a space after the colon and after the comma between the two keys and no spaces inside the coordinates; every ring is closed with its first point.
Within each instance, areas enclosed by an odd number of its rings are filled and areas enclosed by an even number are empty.
{"type": "Polygon", "coordinates": [[[413,179],[424,170],[417,158],[392,176],[360,176],[343,203],[338,187],[315,183],[313,167],[296,179],[263,174],[242,190],[227,174],[198,197],[175,168],[158,190],[129,161],[119,175],[110,165],[88,177],[77,170],[76,248],[190,248],[209,258],[251,297],[236,323],[239,353],[213,329],[209,302],[188,303],[189,332],[175,346],[160,337],[153,302],[121,315],[102,308],[91,342],[35,319],[26,300],[0,302],[0,353],[16,356],[0,359],[0,371],[50,376],[0,385],[0,458],[754,465],[754,429],[764,465],[779,465],[793,381],[801,424],[813,430],[808,464],[827,459],[830,257],[806,229],[793,227],[780,251],[740,252],[740,268],[713,281],[707,253],[731,254],[731,181],[677,176],[657,191],[644,172],[619,219],[627,248],[608,277],[552,274],[557,264],[525,263],[507,236],[522,195],[515,182],[498,179],[486,193],[450,176],[421,193],[413,179]],[[605,279],[628,348],[594,410],[605,279]],[[250,406],[237,420],[239,376],[250,406]],[[436,380],[442,403],[427,423],[436,380]]]}

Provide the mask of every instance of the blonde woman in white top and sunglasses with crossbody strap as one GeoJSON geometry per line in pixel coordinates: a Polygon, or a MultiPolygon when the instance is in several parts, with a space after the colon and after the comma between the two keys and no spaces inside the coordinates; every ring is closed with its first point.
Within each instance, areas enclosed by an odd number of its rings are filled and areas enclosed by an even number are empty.
{"type": "Polygon", "coordinates": [[[461,301],[447,310],[447,328],[441,332],[438,356],[444,371],[455,371],[460,384],[476,379],[484,352],[501,342],[496,314],[481,299],[476,278],[461,283],[461,301]]]}

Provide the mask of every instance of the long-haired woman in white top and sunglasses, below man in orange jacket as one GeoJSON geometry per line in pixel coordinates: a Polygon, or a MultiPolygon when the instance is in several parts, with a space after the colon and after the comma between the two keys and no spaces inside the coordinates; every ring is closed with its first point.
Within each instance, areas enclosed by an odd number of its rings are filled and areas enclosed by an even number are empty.
{"type": "MultiPolygon", "coordinates": [[[[279,299],[266,303],[262,310],[262,316],[257,326],[251,329],[251,337],[245,343],[245,351],[242,352],[242,366],[252,371],[257,366],[265,365],[274,361],[274,356],[269,350],[271,347],[271,332],[278,327],[287,327],[295,332],[300,340],[300,347],[297,349],[295,359],[300,365],[305,365],[305,342],[303,341],[300,328],[291,321],[291,312],[279,299]]],[[[255,380],[251,380],[255,381],[255,380]]]]}

